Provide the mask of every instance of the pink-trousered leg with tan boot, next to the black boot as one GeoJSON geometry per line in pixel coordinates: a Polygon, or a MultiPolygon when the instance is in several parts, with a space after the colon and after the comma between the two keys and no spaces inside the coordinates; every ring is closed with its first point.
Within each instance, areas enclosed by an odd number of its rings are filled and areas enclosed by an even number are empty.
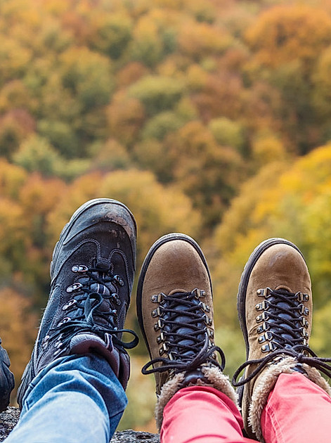
{"type": "Polygon", "coordinates": [[[143,373],[155,374],[161,442],[249,441],[214,344],[207,262],[192,238],[169,234],[152,245],[139,276],[137,313],[151,357],[143,373]]]}

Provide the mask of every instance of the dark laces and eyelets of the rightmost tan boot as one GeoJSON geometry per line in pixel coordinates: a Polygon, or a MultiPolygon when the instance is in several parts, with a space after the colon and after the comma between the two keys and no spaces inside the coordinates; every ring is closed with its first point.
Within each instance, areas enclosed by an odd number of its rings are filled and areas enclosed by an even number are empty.
{"type": "Polygon", "coordinates": [[[257,294],[264,297],[264,300],[256,305],[257,311],[263,311],[257,316],[257,323],[260,324],[257,333],[263,333],[258,341],[263,344],[261,352],[268,355],[242,364],[233,375],[233,386],[245,385],[268,364],[282,360],[285,356],[294,357],[298,364],[312,366],[331,378],[331,359],[318,357],[308,346],[309,323],[305,316],[309,315],[309,309],[304,306],[304,302],[309,300],[309,295],[271,288],[259,289],[257,294]],[[246,378],[237,380],[240,373],[252,364],[257,365],[257,368],[246,378]]]}

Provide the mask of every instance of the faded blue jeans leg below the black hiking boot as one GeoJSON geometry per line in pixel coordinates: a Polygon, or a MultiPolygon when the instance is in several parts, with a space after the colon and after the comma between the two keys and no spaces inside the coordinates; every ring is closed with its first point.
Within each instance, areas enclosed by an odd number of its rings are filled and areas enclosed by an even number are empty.
{"type": "Polygon", "coordinates": [[[30,383],[6,443],[108,443],[127,404],[108,362],[95,354],[53,361],[30,383]]]}

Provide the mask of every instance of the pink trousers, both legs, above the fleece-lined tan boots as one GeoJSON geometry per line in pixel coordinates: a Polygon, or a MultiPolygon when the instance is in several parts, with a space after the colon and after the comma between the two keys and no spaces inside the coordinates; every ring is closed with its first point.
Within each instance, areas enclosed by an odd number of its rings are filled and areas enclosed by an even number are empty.
{"type": "MultiPolygon", "coordinates": [[[[213,387],[179,390],[164,408],[161,443],[252,443],[235,404],[213,387]]],[[[300,373],[280,374],[261,417],[266,443],[331,441],[331,398],[300,373]]]]}

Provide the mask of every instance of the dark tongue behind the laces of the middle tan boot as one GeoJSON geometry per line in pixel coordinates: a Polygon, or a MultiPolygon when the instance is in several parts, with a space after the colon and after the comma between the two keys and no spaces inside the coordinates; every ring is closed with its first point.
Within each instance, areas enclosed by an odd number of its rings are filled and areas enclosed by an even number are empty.
{"type": "MultiPolygon", "coordinates": [[[[172,343],[176,343],[178,345],[178,346],[174,345],[174,351],[175,352],[178,351],[181,354],[181,356],[194,357],[196,354],[194,350],[194,345],[196,345],[196,342],[195,340],[190,339],[190,335],[193,333],[195,328],[191,328],[190,325],[187,323],[192,323],[194,318],[196,318],[196,316],[190,316],[187,314],[187,310],[188,308],[190,308],[190,306],[188,306],[188,304],[186,304],[185,302],[183,303],[182,300],[183,301],[190,300],[191,306],[193,304],[196,304],[198,306],[199,300],[197,300],[195,297],[192,297],[191,293],[188,293],[188,291],[185,291],[183,289],[171,290],[169,296],[174,297],[178,300],[178,302],[173,302],[173,301],[169,302],[169,304],[167,304],[167,307],[169,307],[170,309],[174,309],[176,310],[176,312],[178,312],[178,315],[176,315],[176,324],[178,324],[179,327],[177,326],[176,329],[174,330],[174,324],[172,323],[170,325],[165,325],[164,330],[167,330],[167,332],[169,333],[175,332],[176,334],[183,335],[183,338],[180,339],[178,335],[172,335],[169,341],[172,343]],[[184,349],[183,346],[192,347],[193,349],[192,350],[184,349]]],[[[169,319],[169,317],[171,319],[174,319],[174,314],[171,313],[164,315],[164,319],[169,319]]],[[[201,321],[195,321],[194,326],[197,326],[198,328],[202,329],[204,327],[202,319],[201,321]]],[[[201,337],[198,336],[198,338],[200,340],[203,340],[204,335],[202,334],[200,335],[201,337]]]]}

